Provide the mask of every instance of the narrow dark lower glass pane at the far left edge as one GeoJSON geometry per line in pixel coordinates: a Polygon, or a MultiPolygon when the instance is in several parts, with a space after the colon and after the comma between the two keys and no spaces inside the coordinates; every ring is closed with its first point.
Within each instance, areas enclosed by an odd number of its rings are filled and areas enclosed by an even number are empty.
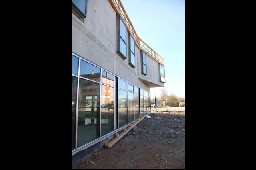
{"type": "Polygon", "coordinates": [[[72,76],[71,81],[71,112],[72,112],[72,122],[71,122],[71,150],[75,149],[76,140],[76,94],[77,94],[77,77],[72,76]]]}

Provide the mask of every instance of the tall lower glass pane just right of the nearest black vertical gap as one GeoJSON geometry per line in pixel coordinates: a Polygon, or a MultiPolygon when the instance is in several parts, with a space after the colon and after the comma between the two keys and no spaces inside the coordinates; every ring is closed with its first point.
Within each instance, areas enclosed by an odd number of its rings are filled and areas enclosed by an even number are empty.
{"type": "Polygon", "coordinates": [[[118,90],[118,115],[118,128],[127,125],[127,92],[124,90],[118,90]]]}

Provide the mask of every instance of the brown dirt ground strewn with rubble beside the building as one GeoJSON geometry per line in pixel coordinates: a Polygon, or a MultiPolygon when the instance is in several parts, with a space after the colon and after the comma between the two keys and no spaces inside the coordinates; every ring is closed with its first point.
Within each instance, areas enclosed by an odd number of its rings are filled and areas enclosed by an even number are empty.
{"type": "Polygon", "coordinates": [[[150,113],[109,149],[72,169],[185,169],[185,111],[150,113]]]}

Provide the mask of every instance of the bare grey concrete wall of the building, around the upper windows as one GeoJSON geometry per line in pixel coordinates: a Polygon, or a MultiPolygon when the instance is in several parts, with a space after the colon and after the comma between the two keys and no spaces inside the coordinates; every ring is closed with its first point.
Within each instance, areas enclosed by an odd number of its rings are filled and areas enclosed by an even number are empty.
{"type": "MultiPolygon", "coordinates": [[[[117,16],[109,0],[87,0],[84,21],[72,12],[72,53],[148,92],[150,87],[164,87],[164,83],[159,80],[159,63],[148,54],[147,75],[142,75],[141,49],[136,45],[134,68],[128,64],[128,59],[122,59],[116,53],[117,16]]],[[[120,131],[122,129],[117,129],[84,147],[73,150],[72,165],[95,152],[104,145],[104,141],[110,141],[120,131]]]]}

